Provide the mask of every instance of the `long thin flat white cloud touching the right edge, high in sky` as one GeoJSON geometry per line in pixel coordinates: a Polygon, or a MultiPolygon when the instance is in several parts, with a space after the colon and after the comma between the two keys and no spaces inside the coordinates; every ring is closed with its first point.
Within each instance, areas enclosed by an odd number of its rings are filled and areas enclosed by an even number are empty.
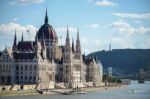
{"type": "Polygon", "coordinates": [[[150,19],[150,13],[113,13],[113,15],[121,18],[150,19]]]}

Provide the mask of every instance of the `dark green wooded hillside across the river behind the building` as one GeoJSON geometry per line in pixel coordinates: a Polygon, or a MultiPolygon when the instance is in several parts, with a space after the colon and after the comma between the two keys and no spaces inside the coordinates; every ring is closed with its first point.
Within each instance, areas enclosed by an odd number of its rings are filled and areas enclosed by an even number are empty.
{"type": "Polygon", "coordinates": [[[112,67],[123,74],[137,74],[140,68],[150,71],[150,49],[114,49],[98,51],[88,55],[97,57],[104,70],[112,67]]]}

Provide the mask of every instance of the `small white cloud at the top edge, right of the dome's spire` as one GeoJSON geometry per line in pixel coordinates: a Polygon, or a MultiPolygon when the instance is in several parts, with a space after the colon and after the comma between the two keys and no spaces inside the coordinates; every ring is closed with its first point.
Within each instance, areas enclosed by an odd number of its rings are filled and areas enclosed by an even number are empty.
{"type": "Polygon", "coordinates": [[[108,1],[108,0],[96,1],[95,4],[98,6],[117,6],[118,5],[118,4],[108,1]]]}

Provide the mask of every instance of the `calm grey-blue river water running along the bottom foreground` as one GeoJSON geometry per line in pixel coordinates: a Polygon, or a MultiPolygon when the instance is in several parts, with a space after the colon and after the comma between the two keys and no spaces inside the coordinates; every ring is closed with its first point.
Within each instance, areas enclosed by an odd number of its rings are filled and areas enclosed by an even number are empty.
{"type": "Polygon", "coordinates": [[[138,84],[132,81],[127,87],[88,92],[82,95],[37,95],[0,97],[1,99],[150,99],[150,81],[138,84]]]}

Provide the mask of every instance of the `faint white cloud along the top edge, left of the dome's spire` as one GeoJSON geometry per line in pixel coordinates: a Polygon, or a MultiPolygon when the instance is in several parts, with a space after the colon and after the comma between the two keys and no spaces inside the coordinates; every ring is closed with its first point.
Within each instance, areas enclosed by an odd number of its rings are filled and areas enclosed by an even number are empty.
{"type": "Polygon", "coordinates": [[[9,2],[10,5],[19,4],[19,5],[27,5],[27,4],[34,4],[34,3],[43,3],[44,0],[12,0],[9,2]]]}

